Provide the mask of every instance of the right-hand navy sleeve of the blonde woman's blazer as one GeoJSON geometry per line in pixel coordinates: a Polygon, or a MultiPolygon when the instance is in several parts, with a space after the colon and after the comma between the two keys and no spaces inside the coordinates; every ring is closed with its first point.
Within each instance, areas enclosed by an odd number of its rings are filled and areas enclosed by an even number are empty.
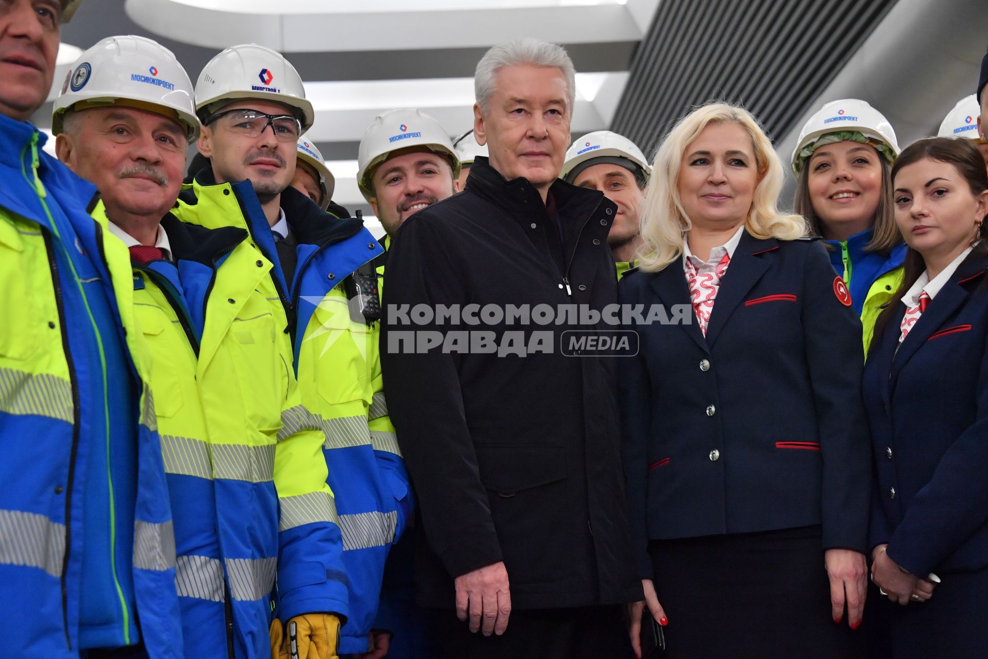
{"type": "Polygon", "coordinates": [[[823,245],[806,255],[802,325],[823,457],[823,546],[866,553],[870,442],[862,400],[862,325],[838,297],[823,245]]]}

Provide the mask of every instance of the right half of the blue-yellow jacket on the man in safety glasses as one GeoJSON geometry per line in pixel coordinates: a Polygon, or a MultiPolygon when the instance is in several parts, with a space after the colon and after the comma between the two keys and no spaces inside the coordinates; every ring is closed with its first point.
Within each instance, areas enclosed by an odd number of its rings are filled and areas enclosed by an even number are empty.
{"type": "Polygon", "coordinates": [[[368,633],[376,628],[387,552],[412,513],[408,473],[384,400],[380,324],[369,325],[351,308],[344,285],[383,252],[356,220],[329,216],[294,189],[282,193],[282,208],[298,243],[292,287],[298,383],[325,435],[350,579],[340,652],[359,654],[367,652],[368,633]]]}

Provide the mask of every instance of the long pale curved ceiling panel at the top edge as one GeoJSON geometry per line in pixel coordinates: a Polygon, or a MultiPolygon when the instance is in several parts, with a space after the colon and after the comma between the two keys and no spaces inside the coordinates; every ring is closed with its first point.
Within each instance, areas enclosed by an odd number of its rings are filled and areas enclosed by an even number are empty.
{"type": "Polygon", "coordinates": [[[611,1],[484,0],[457,9],[423,8],[420,2],[414,9],[384,9],[395,4],[295,0],[258,3],[266,8],[258,12],[250,11],[250,1],[126,0],[125,9],[137,25],[176,41],[214,48],[254,42],[285,53],[476,47],[520,37],[559,43],[642,37],[628,7],[611,1]]]}

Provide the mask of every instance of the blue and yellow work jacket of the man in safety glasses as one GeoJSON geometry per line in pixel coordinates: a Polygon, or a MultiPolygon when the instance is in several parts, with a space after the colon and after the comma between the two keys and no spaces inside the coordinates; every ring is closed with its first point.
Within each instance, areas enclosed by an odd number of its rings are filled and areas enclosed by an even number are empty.
{"type": "MultiPolygon", "coordinates": [[[[404,528],[399,509],[410,500],[383,396],[374,396],[382,386],[376,337],[366,323],[351,318],[346,292],[338,285],[381,249],[360,220],[337,219],[294,189],[282,193],[282,206],[297,240],[291,282],[250,182],[216,184],[206,169],[186,186],[176,214],[209,228],[246,229],[250,243],[274,264],[258,288],[266,291],[281,336],[293,343],[288,364],[297,373],[309,421],[323,435],[326,482],[335,494],[332,526],[342,535],[340,578],[347,584],[347,620],[340,652],[364,652],[384,556],[404,528]],[[341,459],[334,458],[337,453],[341,459]]],[[[280,575],[278,615],[287,621],[296,614],[287,613],[291,593],[285,586],[280,575]]]]}

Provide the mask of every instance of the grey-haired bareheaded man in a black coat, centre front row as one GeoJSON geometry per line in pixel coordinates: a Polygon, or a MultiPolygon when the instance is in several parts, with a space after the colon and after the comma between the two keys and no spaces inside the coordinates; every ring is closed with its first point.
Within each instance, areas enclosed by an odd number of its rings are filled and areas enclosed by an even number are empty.
{"type": "Polygon", "coordinates": [[[388,257],[381,360],[425,531],[418,599],[456,659],[621,656],[620,605],[642,597],[618,358],[573,341],[604,336],[617,302],[616,206],[557,180],[573,75],[557,45],[491,48],[474,78],[490,158],[388,257]]]}

